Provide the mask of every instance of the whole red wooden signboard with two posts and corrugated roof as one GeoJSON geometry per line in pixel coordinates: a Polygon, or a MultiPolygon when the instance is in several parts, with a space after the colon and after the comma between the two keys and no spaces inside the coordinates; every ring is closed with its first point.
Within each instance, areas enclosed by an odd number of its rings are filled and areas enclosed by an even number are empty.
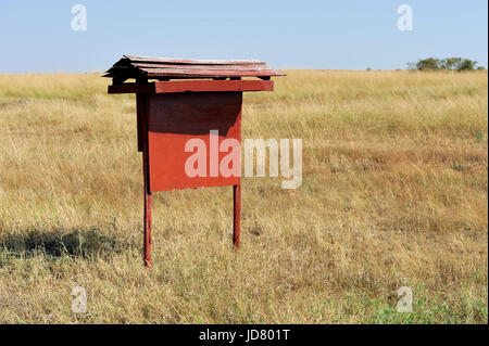
{"type": "Polygon", "coordinates": [[[151,268],[151,202],[152,193],[158,191],[231,185],[233,243],[237,248],[241,229],[240,177],[224,177],[220,169],[211,176],[210,164],[206,177],[188,177],[185,163],[191,153],[185,152],[185,144],[190,139],[201,139],[209,149],[210,163],[211,130],[218,131],[217,146],[226,139],[241,142],[242,92],[273,91],[269,77],[285,74],[255,60],[192,61],[129,55],[108,73],[106,77],[113,78],[109,93],[136,93],[137,143],[143,167],[145,266],[151,268]],[[262,80],[241,80],[243,76],[262,80]],[[213,80],[166,80],[203,77],[213,80]],[[136,82],[124,82],[130,78],[136,78],[136,82]],[[148,78],[165,81],[148,82],[148,78]]]}

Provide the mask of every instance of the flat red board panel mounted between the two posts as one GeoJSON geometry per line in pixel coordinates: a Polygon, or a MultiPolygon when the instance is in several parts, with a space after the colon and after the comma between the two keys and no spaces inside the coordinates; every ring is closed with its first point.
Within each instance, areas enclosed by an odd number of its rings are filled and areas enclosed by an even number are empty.
{"type": "MultiPolygon", "coordinates": [[[[241,102],[242,92],[150,94],[150,192],[239,184],[239,176],[225,177],[218,169],[221,158],[227,155],[218,149],[225,139],[241,140],[241,102]],[[211,131],[218,131],[218,136],[211,131]],[[205,144],[205,172],[191,177],[186,171],[186,162],[195,151],[186,152],[186,143],[195,139],[205,144]]],[[[239,161],[240,154],[234,164],[239,165],[239,161]]]]}

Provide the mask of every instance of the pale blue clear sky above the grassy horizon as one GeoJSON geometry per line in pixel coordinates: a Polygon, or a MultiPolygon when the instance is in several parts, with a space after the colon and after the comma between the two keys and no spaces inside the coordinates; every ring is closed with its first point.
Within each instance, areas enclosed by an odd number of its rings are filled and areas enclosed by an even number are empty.
{"type": "Polygon", "coordinates": [[[125,53],[333,69],[463,56],[487,67],[487,0],[0,0],[0,73],[101,72],[125,53]],[[77,3],[86,31],[71,26],[77,3]],[[397,27],[403,3],[412,31],[397,27]]]}

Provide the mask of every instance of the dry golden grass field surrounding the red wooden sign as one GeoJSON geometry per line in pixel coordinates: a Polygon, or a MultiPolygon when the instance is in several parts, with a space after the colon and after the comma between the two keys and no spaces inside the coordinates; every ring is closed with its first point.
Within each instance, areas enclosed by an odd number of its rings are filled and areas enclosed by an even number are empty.
{"type": "Polygon", "coordinates": [[[230,188],[154,194],[152,270],[135,97],[0,75],[0,323],[487,323],[487,72],[288,74],[243,138],[302,138],[302,185],[243,178],[238,252],[230,188]]]}

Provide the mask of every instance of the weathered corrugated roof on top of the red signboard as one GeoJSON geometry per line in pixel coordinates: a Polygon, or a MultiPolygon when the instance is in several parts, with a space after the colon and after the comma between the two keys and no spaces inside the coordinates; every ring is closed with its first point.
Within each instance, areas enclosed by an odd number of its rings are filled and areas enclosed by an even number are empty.
{"type": "Polygon", "coordinates": [[[103,77],[114,82],[126,79],[189,79],[189,78],[240,78],[285,76],[258,60],[186,60],[124,55],[103,77]]]}

